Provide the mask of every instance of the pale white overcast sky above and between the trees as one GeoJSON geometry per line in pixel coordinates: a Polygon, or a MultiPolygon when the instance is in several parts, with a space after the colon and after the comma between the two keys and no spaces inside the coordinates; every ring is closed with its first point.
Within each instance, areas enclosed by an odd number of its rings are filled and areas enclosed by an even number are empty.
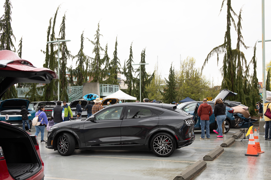
{"type": "MultiPolygon", "coordinates": [[[[4,14],[4,0],[0,0],[0,14],[4,14]]],[[[196,59],[196,66],[202,67],[208,53],[216,46],[223,44],[226,32],[226,3],[220,12],[222,0],[194,0],[194,1],[21,1],[11,0],[12,3],[12,30],[16,37],[15,47],[18,49],[19,40],[23,36],[22,58],[30,61],[36,67],[42,67],[45,55],[47,28],[49,20],[54,16],[57,7],[61,4],[56,20],[55,35],[58,37],[60,24],[64,12],[66,13],[67,47],[72,55],[80,49],[80,36],[84,31],[84,52],[90,57],[93,45],[87,38],[94,40],[95,31],[100,21],[101,46],[108,43],[108,54],[113,57],[116,36],[118,36],[118,58],[123,67],[124,60],[129,58],[129,48],[133,41],[133,60],[140,62],[142,49],[146,47],[147,72],[152,73],[157,64],[162,76],[169,74],[170,64],[175,69],[180,67],[182,59],[192,56],[196,59]]],[[[271,39],[270,22],[271,1],[265,1],[265,37],[271,39]]],[[[242,13],[242,35],[246,46],[250,49],[241,49],[247,61],[253,56],[253,46],[262,37],[261,1],[238,0],[232,1],[232,8],[242,13]]],[[[237,17],[234,17],[237,24],[237,17]]],[[[231,29],[232,48],[236,48],[237,34],[231,29]]],[[[262,81],[262,44],[257,44],[257,77],[262,81]]],[[[271,59],[271,42],[266,42],[266,63],[271,59]]],[[[101,52],[103,54],[103,52],[101,52]]],[[[103,57],[103,56],[102,56],[103,57]]],[[[213,57],[204,68],[204,75],[213,77],[215,83],[221,84],[223,55],[217,66],[216,57],[213,57]]],[[[75,61],[73,66],[75,68],[75,61]]],[[[72,64],[70,60],[68,66],[72,64]]],[[[136,68],[136,67],[134,67],[136,68]]],[[[253,70],[253,67],[251,67],[253,70]]],[[[251,71],[252,73],[252,71],[251,71]]]]}

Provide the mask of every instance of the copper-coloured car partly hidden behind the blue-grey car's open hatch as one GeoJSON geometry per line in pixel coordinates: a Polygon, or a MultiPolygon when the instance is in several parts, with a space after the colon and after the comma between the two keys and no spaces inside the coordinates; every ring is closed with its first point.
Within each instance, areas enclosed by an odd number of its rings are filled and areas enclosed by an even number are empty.
{"type": "Polygon", "coordinates": [[[224,104],[234,109],[235,124],[232,126],[233,128],[240,128],[239,123],[244,121],[239,116],[237,116],[237,113],[245,118],[250,118],[250,114],[249,114],[247,106],[241,105],[241,103],[235,104],[235,103],[232,103],[232,101],[224,101],[224,104]]]}

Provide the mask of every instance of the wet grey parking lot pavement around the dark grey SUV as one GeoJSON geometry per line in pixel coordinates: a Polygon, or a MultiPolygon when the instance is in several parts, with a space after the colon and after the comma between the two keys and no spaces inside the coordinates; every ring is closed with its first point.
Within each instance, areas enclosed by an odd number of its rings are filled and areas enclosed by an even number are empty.
{"type": "MultiPolygon", "coordinates": [[[[232,137],[240,129],[230,129],[222,138],[210,132],[210,140],[200,140],[201,131],[195,131],[196,139],[190,145],[176,149],[168,158],[159,158],[151,151],[127,150],[75,150],[70,156],[61,156],[57,151],[45,148],[40,143],[39,150],[44,162],[45,180],[89,180],[89,179],[120,179],[120,180],[172,180],[188,166],[194,164],[220,146],[223,141],[232,137]]],[[[35,134],[32,128],[31,134],[35,134]]],[[[47,131],[45,130],[45,140],[47,131]]],[[[205,136],[206,137],[206,136],[205,136]]],[[[236,140],[229,148],[214,161],[206,161],[207,167],[198,173],[193,180],[203,179],[271,179],[269,172],[271,141],[259,135],[263,154],[258,157],[245,156],[248,141],[236,140]]]]}

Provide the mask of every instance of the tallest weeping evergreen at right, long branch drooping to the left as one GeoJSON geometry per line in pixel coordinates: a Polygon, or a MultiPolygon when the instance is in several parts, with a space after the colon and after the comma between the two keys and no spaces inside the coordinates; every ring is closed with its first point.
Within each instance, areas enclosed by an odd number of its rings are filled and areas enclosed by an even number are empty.
{"type": "Polygon", "coordinates": [[[236,91],[236,61],[234,60],[234,52],[231,48],[231,25],[233,24],[234,28],[235,21],[232,17],[232,14],[234,16],[237,16],[236,13],[233,11],[231,7],[231,0],[223,0],[222,6],[220,9],[220,12],[222,11],[224,2],[227,1],[227,27],[226,27],[226,33],[224,37],[224,43],[220,46],[217,46],[213,48],[213,50],[207,55],[207,58],[204,61],[204,64],[202,66],[202,70],[206,63],[208,63],[208,60],[213,56],[217,55],[217,63],[219,61],[219,54],[224,54],[223,57],[223,66],[221,67],[221,72],[223,75],[222,80],[222,89],[229,89],[230,91],[235,92],[236,91]]]}

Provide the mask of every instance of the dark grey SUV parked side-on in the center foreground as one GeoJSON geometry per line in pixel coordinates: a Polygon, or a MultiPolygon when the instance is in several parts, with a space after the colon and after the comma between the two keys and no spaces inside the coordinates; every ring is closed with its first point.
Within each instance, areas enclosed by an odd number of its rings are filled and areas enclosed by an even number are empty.
{"type": "Polygon", "coordinates": [[[151,150],[168,157],[195,140],[193,116],[173,104],[121,103],[88,119],[58,123],[48,131],[46,148],[62,156],[74,149],[151,150]]]}

